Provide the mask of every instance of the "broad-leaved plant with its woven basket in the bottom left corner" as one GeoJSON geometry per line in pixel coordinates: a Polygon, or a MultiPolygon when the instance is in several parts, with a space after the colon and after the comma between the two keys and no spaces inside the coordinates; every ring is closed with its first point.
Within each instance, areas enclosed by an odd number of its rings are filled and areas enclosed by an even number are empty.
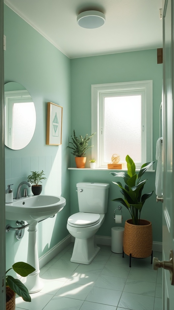
{"type": "MultiPolygon", "coordinates": [[[[21,277],[27,277],[30,273],[36,269],[28,263],[18,262],[14,263],[12,268],[21,277]]],[[[6,310],[15,310],[15,294],[22,297],[24,301],[31,302],[31,297],[28,293],[26,286],[19,280],[12,276],[6,276],[6,310]]]]}

